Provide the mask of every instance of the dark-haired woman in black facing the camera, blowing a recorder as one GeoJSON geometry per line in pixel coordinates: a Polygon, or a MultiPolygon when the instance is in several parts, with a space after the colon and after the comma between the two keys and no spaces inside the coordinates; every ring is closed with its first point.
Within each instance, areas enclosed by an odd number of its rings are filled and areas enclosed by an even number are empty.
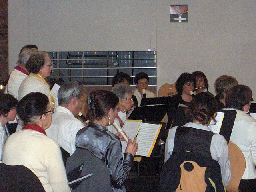
{"type": "Polygon", "coordinates": [[[168,122],[166,128],[170,128],[179,104],[183,106],[188,106],[188,104],[192,101],[190,91],[193,92],[195,86],[196,78],[192,74],[184,72],[179,76],[179,78],[175,82],[175,87],[178,94],[172,97],[171,103],[169,104],[169,109],[167,111],[168,122]]]}

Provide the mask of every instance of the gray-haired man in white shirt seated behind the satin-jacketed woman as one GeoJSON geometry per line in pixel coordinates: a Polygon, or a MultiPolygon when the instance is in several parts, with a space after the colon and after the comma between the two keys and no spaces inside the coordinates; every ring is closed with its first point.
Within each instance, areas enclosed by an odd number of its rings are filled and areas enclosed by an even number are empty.
{"type": "Polygon", "coordinates": [[[52,125],[46,129],[48,137],[57,141],[72,155],[76,149],[75,138],[78,130],[85,125],[75,118],[84,103],[84,88],[78,82],[67,82],[58,90],[58,104],[52,114],[52,125]]]}

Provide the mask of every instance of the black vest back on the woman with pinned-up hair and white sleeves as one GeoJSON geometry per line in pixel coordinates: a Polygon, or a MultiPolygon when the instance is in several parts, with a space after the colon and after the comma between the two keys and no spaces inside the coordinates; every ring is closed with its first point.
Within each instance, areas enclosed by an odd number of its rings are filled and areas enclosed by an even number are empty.
{"type": "Polygon", "coordinates": [[[174,138],[173,153],[190,151],[211,157],[211,141],[214,133],[192,127],[178,127],[174,138]]]}

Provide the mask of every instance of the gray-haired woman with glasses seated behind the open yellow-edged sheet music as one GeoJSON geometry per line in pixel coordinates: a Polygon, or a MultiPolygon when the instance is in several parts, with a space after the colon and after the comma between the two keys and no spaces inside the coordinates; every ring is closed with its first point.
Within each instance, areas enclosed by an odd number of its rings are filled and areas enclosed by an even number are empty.
{"type": "MultiPolygon", "coordinates": [[[[116,84],[112,89],[111,92],[116,94],[119,98],[118,103],[118,113],[116,116],[116,123],[120,125],[122,128],[124,126],[124,121],[126,120],[126,112],[130,110],[133,105],[132,95],[134,93],[132,87],[128,84],[116,84]]],[[[118,133],[116,128],[113,125],[107,126],[108,131],[111,133],[116,134],[120,138],[121,141],[124,140],[122,135],[118,133]]]]}

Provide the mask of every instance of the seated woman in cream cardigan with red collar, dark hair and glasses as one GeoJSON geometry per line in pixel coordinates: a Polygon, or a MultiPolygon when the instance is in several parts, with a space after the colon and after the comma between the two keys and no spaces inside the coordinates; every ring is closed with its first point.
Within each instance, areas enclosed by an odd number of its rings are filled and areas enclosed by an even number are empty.
{"type": "Polygon", "coordinates": [[[17,105],[17,113],[25,125],[6,140],[2,162],[29,168],[45,191],[66,192],[70,188],[60,146],[45,133],[53,112],[45,94],[32,92],[24,96],[17,105]]]}

